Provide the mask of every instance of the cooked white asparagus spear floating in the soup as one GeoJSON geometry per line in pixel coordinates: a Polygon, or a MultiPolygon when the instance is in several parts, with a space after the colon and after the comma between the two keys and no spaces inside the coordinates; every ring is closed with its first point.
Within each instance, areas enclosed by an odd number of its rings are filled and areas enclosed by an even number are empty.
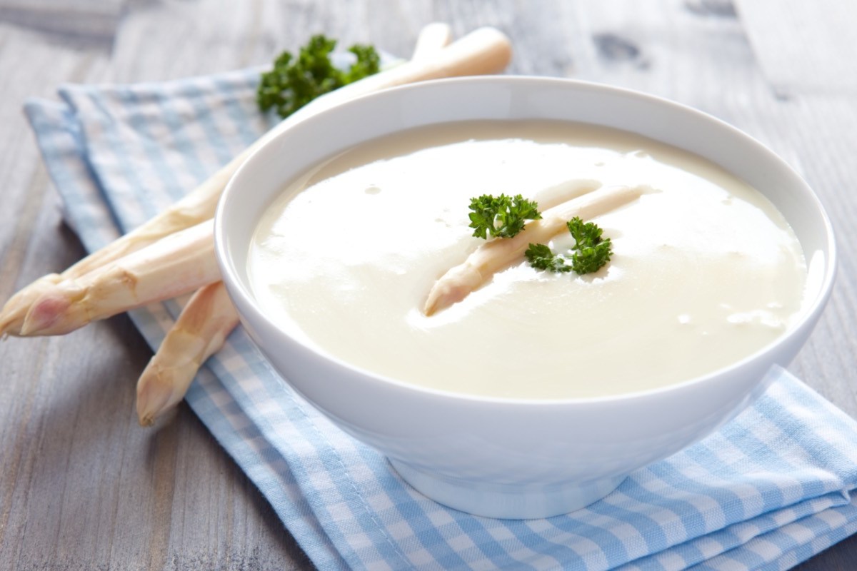
{"type": "Polygon", "coordinates": [[[428,293],[423,306],[425,315],[439,312],[453,303],[464,300],[467,294],[485,283],[495,272],[518,259],[530,243],[549,241],[573,217],[589,219],[626,205],[645,192],[644,187],[603,187],[578,198],[568,200],[542,212],[542,219],[526,225],[512,238],[491,240],[477,247],[473,253],[440,277],[428,293]]]}

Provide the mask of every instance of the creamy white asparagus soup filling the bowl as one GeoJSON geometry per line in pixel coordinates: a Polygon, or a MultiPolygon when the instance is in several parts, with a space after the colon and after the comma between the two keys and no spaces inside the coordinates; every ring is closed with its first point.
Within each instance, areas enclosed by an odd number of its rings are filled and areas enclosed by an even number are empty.
{"type": "Polygon", "coordinates": [[[249,276],[285,330],[353,366],[561,399],[674,384],[756,352],[800,311],[806,264],[776,208],[703,158],[574,123],[463,122],[357,146],[292,181],[256,229],[249,276]],[[468,227],[472,197],[542,208],[611,186],[644,192],[591,219],[613,244],[601,270],[521,258],[423,314],[435,281],[484,242],[468,227]]]}

